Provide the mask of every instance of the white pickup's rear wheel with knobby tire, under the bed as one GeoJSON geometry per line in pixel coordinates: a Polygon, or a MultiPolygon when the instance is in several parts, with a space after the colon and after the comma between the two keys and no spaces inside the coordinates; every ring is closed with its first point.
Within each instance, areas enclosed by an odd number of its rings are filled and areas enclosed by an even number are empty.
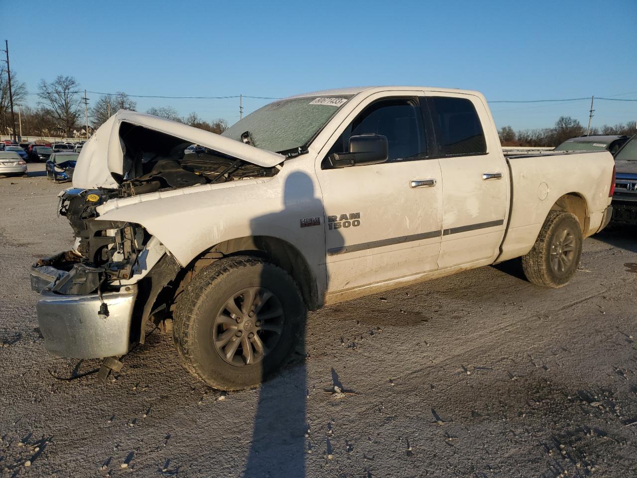
{"type": "Polygon", "coordinates": [[[533,249],[522,256],[524,275],[538,286],[566,286],[580,265],[582,243],[582,229],[575,215],[550,211],[533,249]]]}

